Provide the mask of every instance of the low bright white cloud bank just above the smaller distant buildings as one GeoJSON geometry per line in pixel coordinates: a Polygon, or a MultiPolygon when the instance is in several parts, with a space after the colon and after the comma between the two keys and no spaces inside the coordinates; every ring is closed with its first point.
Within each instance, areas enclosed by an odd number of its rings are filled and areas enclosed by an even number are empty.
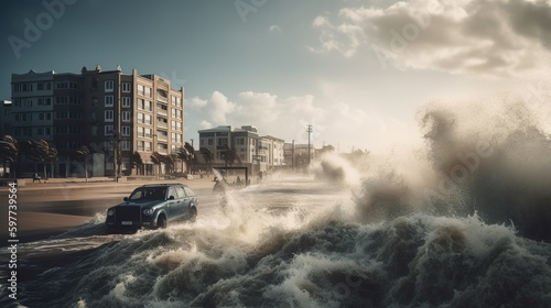
{"type": "Polygon", "coordinates": [[[191,106],[195,111],[193,118],[202,119],[197,123],[199,129],[253,125],[261,135],[306,143],[306,125],[311,124],[316,146],[325,143],[338,145],[343,151],[353,146],[388,147],[402,139],[411,139],[412,132],[418,132],[397,119],[383,118],[339,101],[322,102],[311,95],[279,98],[268,92],[246,91],[238,94],[233,101],[215,91],[207,100],[195,100],[206,102],[191,106]]]}

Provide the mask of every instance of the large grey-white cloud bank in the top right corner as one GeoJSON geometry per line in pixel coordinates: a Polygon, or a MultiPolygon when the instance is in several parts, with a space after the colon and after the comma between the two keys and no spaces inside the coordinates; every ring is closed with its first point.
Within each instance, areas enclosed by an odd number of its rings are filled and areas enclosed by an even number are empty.
{"type": "Polygon", "coordinates": [[[336,19],[314,19],[322,46],[313,50],[350,57],[365,46],[383,67],[516,76],[550,55],[551,1],[412,0],[344,8],[336,19]]]}

